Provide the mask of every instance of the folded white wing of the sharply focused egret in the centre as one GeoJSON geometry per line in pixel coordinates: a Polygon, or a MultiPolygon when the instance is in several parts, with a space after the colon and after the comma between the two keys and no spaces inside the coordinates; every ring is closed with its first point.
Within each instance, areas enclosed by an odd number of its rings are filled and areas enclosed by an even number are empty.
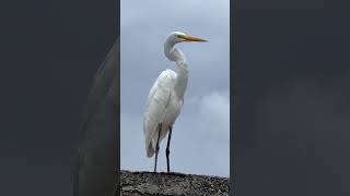
{"type": "Polygon", "coordinates": [[[143,132],[145,136],[147,156],[152,157],[154,147],[151,145],[152,138],[158,130],[164,109],[167,106],[171,88],[174,86],[176,73],[172,70],[165,70],[153,84],[145,102],[143,115],[143,132]]]}

